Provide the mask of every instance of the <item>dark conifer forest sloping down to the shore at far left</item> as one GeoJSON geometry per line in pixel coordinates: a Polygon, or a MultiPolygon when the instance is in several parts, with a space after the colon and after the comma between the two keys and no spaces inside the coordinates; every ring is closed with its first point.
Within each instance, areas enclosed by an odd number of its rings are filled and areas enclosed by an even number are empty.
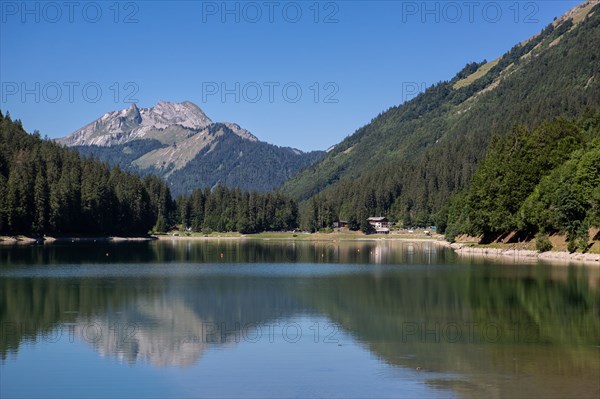
{"type": "Polygon", "coordinates": [[[0,234],[146,234],[169,201],[159,178],[81,157],[0,113],[0,234]]]}

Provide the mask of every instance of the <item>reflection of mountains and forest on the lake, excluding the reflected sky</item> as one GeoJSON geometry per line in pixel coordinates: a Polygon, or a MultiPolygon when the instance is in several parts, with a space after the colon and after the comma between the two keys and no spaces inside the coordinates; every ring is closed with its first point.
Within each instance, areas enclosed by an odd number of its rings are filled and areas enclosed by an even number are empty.
{"type": "Polygon", "coordinates": [[[332,347],[363,346],[460,396],[600,390],[593,267],[469,261],[389,241],[51,246],[0,259],[4,361],[60,336],[129,364],[189,368],[213,348],[275,334],[299,350],[316,326],[320,343],[335,333],[332,347]]]}

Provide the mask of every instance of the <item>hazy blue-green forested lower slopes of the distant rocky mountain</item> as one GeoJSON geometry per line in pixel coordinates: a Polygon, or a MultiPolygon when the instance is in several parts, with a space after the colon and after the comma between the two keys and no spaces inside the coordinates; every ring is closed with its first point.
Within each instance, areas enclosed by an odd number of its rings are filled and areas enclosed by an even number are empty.
{"type": "Polygon", "coordinates": [[[208,128],[213,134],[219,129],[227,134],[214,138],[210,146],[204,147],[185,166],[178,169],[157,168],[154,165],[142,167],[136,164],[144,155],[170,147],[158,140],[138,139],[111,146],[86,145],[72,148],[84,156],[94,156],[106,161],[111,166],[120,166],[142,175],[162,177],[174,196],[189,195],[197,188],[216,186],[268,192],[299,170],[321,159],[324,154],[322,151],[299,153],[292,148],[245,140],[223,124],[214,124],[208,128]]]}

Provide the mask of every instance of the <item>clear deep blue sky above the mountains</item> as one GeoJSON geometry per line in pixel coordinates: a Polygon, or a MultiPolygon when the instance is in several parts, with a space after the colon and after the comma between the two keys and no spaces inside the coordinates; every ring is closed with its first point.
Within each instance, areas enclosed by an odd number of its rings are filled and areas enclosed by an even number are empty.
{"type": "Polygon", "coordinates": [[[3,0],[0,109],[61,137],[131,101],[190,100],[325,149],[580,2],[3,0]]]}

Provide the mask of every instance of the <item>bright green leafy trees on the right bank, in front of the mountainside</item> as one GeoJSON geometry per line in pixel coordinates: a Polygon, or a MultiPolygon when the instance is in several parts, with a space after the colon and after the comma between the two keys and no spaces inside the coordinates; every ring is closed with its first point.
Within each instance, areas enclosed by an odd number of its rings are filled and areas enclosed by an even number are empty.
{"type": "Polygon", "coordinates": [[[585,250],[589,229],[600,227],[600,111],[495,138],[447,221],[450,239],[561,232],[570,250],[585,250]]]}

